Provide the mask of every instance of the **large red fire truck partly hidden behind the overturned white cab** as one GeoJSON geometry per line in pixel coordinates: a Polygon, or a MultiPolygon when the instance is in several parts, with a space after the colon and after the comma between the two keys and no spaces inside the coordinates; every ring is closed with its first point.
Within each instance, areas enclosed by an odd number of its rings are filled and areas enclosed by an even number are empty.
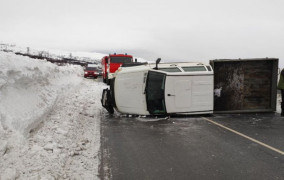
{"type": "Polygon", "coordinates": [[[133,57],[128,54],[109,54],[102,58],[103,81],[109,84],[112,74],[123,64],[133,62],[133,57]]]}

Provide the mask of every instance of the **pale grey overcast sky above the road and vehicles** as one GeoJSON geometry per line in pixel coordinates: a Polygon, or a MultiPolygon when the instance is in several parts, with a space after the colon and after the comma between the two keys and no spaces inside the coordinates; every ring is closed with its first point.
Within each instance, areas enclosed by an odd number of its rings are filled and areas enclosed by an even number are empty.
{"type": "Polygon", "coordinates": [[[283,7],[283,0],[0,0],[0,42],[164,61],[276,57],[284,66],[283,7]]]}

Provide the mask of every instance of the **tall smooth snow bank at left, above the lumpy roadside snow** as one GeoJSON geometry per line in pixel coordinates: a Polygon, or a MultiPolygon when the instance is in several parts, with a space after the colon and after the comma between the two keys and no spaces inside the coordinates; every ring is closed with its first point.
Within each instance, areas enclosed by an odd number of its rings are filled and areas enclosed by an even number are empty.
{"type": "Polygon", "coordinates": [[[0,132],[28,135],[44,120],[58,95],[82,81],[82,72],[80,66],[59,67],[0,52],[0,132]]]}

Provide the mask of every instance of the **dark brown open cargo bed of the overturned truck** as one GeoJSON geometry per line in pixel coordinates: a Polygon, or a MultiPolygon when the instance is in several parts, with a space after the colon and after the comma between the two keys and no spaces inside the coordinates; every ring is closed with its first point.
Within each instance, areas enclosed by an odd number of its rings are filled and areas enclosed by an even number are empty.
{"type": "Polygon", "coordinates": [[[216,59],[214,113],[276,111],[278,59],[216,59]]]}

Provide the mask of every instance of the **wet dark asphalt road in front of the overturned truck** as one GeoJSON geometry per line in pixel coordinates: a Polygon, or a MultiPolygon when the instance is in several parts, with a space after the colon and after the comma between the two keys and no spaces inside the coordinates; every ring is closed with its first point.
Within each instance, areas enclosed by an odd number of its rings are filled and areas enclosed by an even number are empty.
{"type": "MultiPolygon", "coordinates": [[[[284,118],[207,118],[284,151],[284,118]]],[[[103,115],[101,179],[284,179],[284,156],[201,116],[168,120],[103,115]]]]}

